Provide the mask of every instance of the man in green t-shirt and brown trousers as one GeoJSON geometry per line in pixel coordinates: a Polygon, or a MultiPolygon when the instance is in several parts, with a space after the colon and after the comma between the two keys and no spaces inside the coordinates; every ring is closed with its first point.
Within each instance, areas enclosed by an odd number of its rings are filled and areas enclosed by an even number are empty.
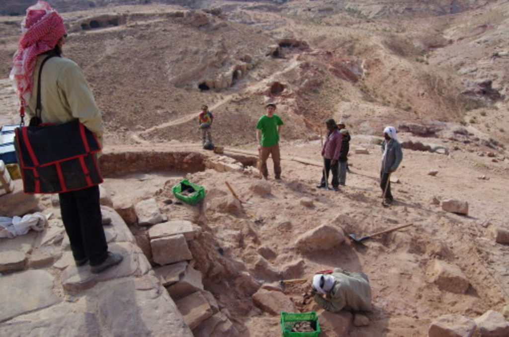
{"type": "Polygon", "coordinates": [[[269,172],[267,171],[267,158],[272,155],[274,162],[274,175],[276,179],[281,179],[281,156],[279,154],[279,130],[283,121],[279,116],[274,115],[276,105],[269,103],[265,106],[267,114],[260,117],[256,125],[256,140],[258,142],[259,167],[260,173],[264,179],[267,179],[269,172]],[[260,137],[261,135],[261,137],[260,137]],[[260,140],[261,138],[261,140],[260,140]]]}

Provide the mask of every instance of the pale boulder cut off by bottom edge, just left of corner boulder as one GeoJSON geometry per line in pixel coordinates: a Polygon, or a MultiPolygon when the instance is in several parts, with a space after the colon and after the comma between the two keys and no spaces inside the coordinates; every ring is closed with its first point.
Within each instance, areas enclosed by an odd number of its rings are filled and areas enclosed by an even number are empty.
{"type": "Polygon", "coordinates": [[[472,337],[475,331],[474,320],[462,315],[443,315],[431,323],[429,337],[472,337]]]}

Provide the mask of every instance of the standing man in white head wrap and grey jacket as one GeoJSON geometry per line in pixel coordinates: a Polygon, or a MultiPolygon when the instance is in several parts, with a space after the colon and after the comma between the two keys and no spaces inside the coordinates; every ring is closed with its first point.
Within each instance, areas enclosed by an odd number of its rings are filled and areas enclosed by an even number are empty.
{"type": "Polygon", "coordinates": [[[384,130],[384,141],[382,142],[382,168],[380,170],[380,188],[382,192],[387,187],[385,193],[385,202],[391,203],[393,201],[392,193],[390,192],[389,174],[396,171],[403,159],[403,151],[401,144],[398,142],[396,136],[396,128],[387,126],[384,130]]]}

